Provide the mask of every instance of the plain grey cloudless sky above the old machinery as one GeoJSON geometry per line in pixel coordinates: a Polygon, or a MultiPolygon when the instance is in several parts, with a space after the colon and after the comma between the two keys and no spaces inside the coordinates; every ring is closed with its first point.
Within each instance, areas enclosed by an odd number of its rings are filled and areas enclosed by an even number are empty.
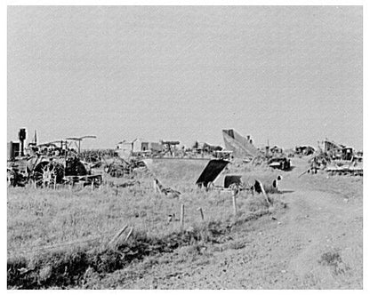
{"type": "Polygon", "coordinates": [[[8,6],[7,137],[362,149],[361,6],[8,6]]]}

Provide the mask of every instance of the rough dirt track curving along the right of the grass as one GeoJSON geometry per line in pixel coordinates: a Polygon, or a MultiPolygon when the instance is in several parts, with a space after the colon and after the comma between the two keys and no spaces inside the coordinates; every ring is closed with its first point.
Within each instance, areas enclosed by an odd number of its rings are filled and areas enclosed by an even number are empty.
{"type": "Polygon", "coordinates": [[[286,211],[237,227],[227,243],[187,247],[117,271],[104,288],[362,289],[362,179],[284,176],[286,211]]]}

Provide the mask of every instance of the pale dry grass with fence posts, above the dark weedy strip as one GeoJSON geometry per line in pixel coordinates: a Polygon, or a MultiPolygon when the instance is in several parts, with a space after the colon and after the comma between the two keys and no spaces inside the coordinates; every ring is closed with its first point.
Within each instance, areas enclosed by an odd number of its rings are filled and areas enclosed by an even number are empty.
{"type": "MultiPolygon", "coordinates": [[[[201,223],[199,207],[206,222],[233,217],[229,192],[182,187],[181,197],[173,199],[142,185],[103,187],[93,193],[87,187],[73,191],[12,188],[8,191],[8,255],[94,236],[109,239],[125,224],[150,235],[168,235],[180,228],[181,203],[185,228],[201,223]],[[171,222],[169,214],[175,216],[171,222]]],[[[266,205],[260,195],[237,198],[240,218],[266,205]]]]}

